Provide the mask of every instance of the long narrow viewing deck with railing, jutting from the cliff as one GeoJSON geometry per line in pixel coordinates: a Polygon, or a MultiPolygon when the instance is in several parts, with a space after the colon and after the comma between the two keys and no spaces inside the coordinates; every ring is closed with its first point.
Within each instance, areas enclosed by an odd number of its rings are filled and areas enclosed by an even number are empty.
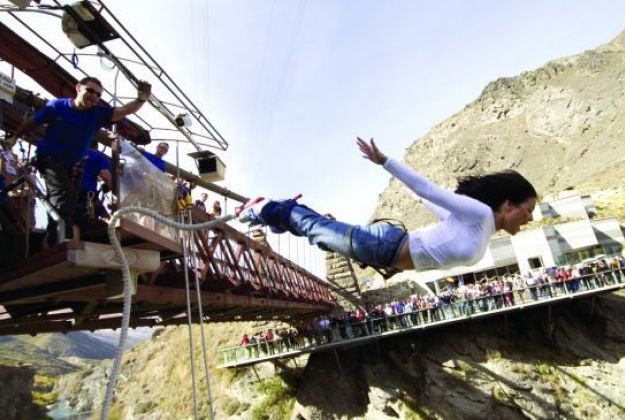
{"type": "Polygon", "coordinates": [[[394,315],[392,317],[372,319],[359,324],[352,324],[352,337],[341,339],[337,331],[329,332],[329,336],[338,338],[336,341],[327,341],[323,334],[317,333],[314,343],[303,345],[302,337],[296,346],[282,343],[281,339],[274,343],[265,342],[249,346],[232,346],[219,350],[220,368],[248,366],[277,359],[286,359],[306,353],[336,349],[343,346],[352,346],[369,343],[375,340],[395,337],[400,334],[410,334],[439,327],[446,327],[471,320],[486,317],[501,316],[516,313],[540,306],[570,302],[574,299],[583,299],[603,293],[610,293],[625,288],[625,275],[618,271],[608,271],[603,275],[586,276],[571,279],[563,283],[549,283],[525,289],[514,290],[515,304],[498,307],[497,299],[502,295],[484,296],[476,299],[454,302],[438,308],[423,309],[412,313],[394,315]],[[572,287],[578,282],[580,289],[572,292],[572,287]],[[583,289],[583,290],[582,290],[583,289]],[[532,295],[547,293],[549,297],[533,299],[532,295]],[[463,310],[463,308],[465,308],[463,310]],[[404,321],[400,321],[403,318],[404,321]],[[414,319],[417,322],[413,324],[414,319]],[[402,326],[405,322],[405,326],[402,326]],[[358,334],[356,337],[354,334],[358,334]],[[293,348],[297,347],[297,348],[293,348]]]}

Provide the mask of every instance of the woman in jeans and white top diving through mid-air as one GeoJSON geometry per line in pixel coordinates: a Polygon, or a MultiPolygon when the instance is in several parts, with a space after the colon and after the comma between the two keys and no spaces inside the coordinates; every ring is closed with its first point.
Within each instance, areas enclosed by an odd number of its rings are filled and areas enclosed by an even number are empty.
{"type": "Polygon", "coordinates": [[[295,199],[261,201],[244,210],[239,220],[306,236],[313,245],[375,268],[417,271],[474,264],[493,233],[503,229],[514,235],[532,220],[536,190],[513,170],[462,178],[451,192],[387,158],[373,139],[367,143],[358,138],[358,147],[364,158],[382,165],[421,197],[440,222],[412,232],[388,223],[354,226],[322,216],[295,199]]]}

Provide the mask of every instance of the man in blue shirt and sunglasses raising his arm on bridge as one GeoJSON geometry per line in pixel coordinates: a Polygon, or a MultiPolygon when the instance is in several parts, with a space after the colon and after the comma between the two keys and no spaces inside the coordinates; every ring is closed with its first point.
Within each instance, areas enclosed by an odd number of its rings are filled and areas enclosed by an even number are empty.
{"type": "MultiPolygon", "coordinates": [[[[150,84],[140,82],[137,99],[112,108],[100,101],[102,83],[85,77],[76,85],[75,98],[53,99],[17,129],[15,138],[38,125],[48,124],[46,135],[37,144],[37,169],[41,172],[50,203],[65,222],[65,236],[80,239],[76,225],[76,204],[80,171],[76,164],[88,154],[89,143],[102,127],[134,114],[150,98],[150,84]],[[79,176],[78,176],[79,178],[79,176]]],[[[57,242],[56,222],[48,215],[47,244],[57,242]]]]}

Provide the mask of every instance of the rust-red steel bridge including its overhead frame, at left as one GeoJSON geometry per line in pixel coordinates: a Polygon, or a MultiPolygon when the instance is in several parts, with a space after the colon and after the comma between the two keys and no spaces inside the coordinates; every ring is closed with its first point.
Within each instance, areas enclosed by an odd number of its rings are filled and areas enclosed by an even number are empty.
{"type": "MultiPolygon", "coordinates": [[[[39,16],[63,10],[71,12],[58,2],[54,3],[57,6],[39,10],[39,16]]],[[[50,51],[44,54],[0,21],[0,60],[30,77],[54,97],[74,96],[78,79],[87,73],[74,68],[76,63],[68,54],[42,36],[36,25],[28,24],[28,19],[24,18],[24,12],[28,11],[3,7],[0,12],[4,13],[3,17],[14,19],[13,28],[26,28],[29,40],[37,41],[50,51]]],[[[196,140],[209,142],[211,147],[225,150],[228,146],[225,139],[121,22],[103,4],[98,10],[94,9],[94,13],[107,17],[107,30],[115,32],[118,44],[123,42],[126,51],[134,54],[131,61],[143,63],[144,69],[151,72],[155,87],[151,105],[170,122],[175,114],[173,109],[187,110],[195,119],[199,131],[183,130],[178,133],[179,137],[193,144],[196,140]],[[164,100],[157,97],[161,93],[166,97],[164,100]]],[[[58,23],[60,28],[60,20],[58,23]]],[[[137,78],[125,67],[125,61],[101,41],[96,39],[94,45],[104,51],[106,58],[112,60],[128,80],[136,83],[137,78]]],[[[114,97],[114,104],[127,99],[114,97]]],[[[0,129],[9,134],[15,132],[26,116],[45,103],[46,99],[38,94],[17,86],[12,102],[0,100],[0,129]]],[[[135,144],[150,143],[151,133],[158,129],[141,116],[132,120],[126,118],[117,124],[119,136],[135,144]]],[[[98,140],[107,146],[111,145],[108,134],[105,130],[97,134],[98,140]]],[[[34,131],[23,140],[36,145],[42,135],[42,130],[34,131]]],[[[121,173],[117,146],[112,146],[112,189],[117,194],[121,173]]],[[[246,200],[236,192],[169,163],[167,171],[225,198],[246,200]]],[[[196,223],[209,217],[197,209],[190,211],[196,223]]],[[[93,221],[83,226],[81,241],[63,242],[44,250],[43,232],[17,223],[11,218],[15,214],[5,214],[1,208],[0,216],[0,334],[120,326],[122,280],[119,266],[112,257],[105,222],[93,221]]],[[[334,307],[323,280],[228,225],[220,224],[195,234],[186,246],[186,258],[179,237],[164,235],[132,220],[124,219],[117,227],[117,234],[134,273],[131,327],[178,325],[186,323],[187,317],[199,322],[198,315],[188,313],[187,299],[191,301],[192,312],[201,305],[202,321],[208,322],[308,318],[327,313],[334,307]],[[192,259],[195,263],[189,264],[192,259]],[[196,277],[200,292],[187,294],[185,280],[193,282],[196,277]]]]}

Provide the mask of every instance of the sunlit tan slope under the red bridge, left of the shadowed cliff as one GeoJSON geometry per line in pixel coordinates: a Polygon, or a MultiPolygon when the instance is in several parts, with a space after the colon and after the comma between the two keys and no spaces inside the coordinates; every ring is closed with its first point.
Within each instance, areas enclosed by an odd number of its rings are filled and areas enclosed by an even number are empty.
{"type": "MultiPolygon", "coordinates": [[[[227,406],[230,401],[234,401],[229,397],[231,393],[244,396],[241,406],[245,409],[251,407],[254,401],[262,402],[261,395],[249,394],[246,381],[234,380],[238,376],[237,372],[215,368],[217,349],[236,345],[243,332],[266,331],[267,328],[275,326],[273,323],[271,326],[265,323],[220,323],[206,327],[211,394],[217,404],[221,402],[227,406]]],[[[193,328],[193,341],[198,406],[201,412],[206,413],[209,406],[208,390],[198,326],[193,328]]],[[[130,415],[135,419],[191,417],[193,388],[189,360],[189,338],[186,327],[156,330],[149,342],[140,344],[126,353],[116,391],[117,403],[111,410],[112,418],[130,415]]],[[[110,366],[110,361],[106,361],[64,376],[56,387],[59,399],[66,401],[75,411],[97,410],[102,402],[110,366]]],[[[260,368],[259,372],[265,370],[260,368]]],[[[250,371],[241,377],[253,375],[253,371],[250,371]]],[[[223,410],[223,407],[219,407],[222,415],[223,410]]]]}

